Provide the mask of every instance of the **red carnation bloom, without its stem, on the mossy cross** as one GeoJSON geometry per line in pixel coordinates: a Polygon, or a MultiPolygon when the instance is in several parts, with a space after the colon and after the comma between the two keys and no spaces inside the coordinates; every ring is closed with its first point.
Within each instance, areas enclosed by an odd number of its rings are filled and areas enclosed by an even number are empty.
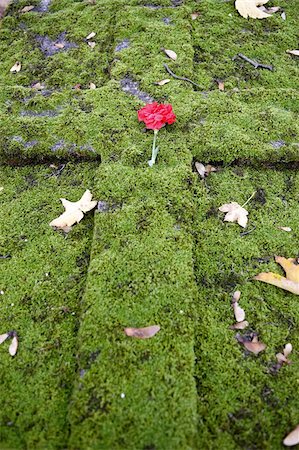
{"type": "Polygon", "coordinates": [[[176,116],[171,105],[154,102],[138,111],[138,120],[144,122],[146,128],[150,130],[160,130],[167,123],[169,125],[174,123],[176,116]]]}

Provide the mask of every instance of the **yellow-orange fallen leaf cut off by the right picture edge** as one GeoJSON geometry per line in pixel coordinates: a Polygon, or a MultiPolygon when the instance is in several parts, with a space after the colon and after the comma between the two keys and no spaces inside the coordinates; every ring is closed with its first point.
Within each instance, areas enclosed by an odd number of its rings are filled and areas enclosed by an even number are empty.
{"type": "Polygon", "coordinates": [[[299,261],[294,258],[275,256],[275,261],[282,266],[286,277],[273,272],[262,272],[254,277],[254,280],[272,284],[292,294],[299,295],[299,261]]]}

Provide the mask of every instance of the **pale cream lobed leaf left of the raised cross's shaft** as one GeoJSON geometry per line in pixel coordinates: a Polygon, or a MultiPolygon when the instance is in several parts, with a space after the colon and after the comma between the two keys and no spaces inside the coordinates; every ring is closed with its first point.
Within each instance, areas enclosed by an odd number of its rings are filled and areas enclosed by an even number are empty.
{"type": "Polygon", "coordinates": [[[92,194],[88,189],[77,202],[70,202],[65,198],[61,198],[60,200],[64,206],[65,212],[52,220],[50,226],[69,231],[69,227],[75,223],[79,223],[80,220],[83,219],[84,213],[92,210],[96,206],[96,200],[91,199],[92,194]]]}

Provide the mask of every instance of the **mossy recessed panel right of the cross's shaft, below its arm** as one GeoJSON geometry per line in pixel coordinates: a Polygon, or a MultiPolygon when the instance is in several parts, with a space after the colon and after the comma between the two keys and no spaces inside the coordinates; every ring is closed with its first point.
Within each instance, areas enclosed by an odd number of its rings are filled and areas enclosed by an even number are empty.
{"type": "Polygon", "coordinates": [[[275,374],[275,354],[287,342],[299,345],[298,302],[294,295],[253,280],[262,271],[282,273],[274,255],[297,255],[299,178],[296,171],[225,169],[198,182],[195,249],[199,289],[196,328],[198,413],[197,448],[280,448],[298,422],[297,353],[293,364],[275,374]],[[289,186],[289,188],[287,188],[289,186]],[[248,205],[248,235],[211,207],[230,201],[248,205]],[[290,226],[291,233],[279,226],[290,226]],[[255,228],[254,228],[255,227],[255,228]],[[229,330],[234,322],[231,295],[239,289],[249,328],[267,345],[259,356],[247,354],[229,330]],[[225,389],[223,389],[225,386],[225,389]],[[208,444],[207,444],[208,442],[208,444]]]}

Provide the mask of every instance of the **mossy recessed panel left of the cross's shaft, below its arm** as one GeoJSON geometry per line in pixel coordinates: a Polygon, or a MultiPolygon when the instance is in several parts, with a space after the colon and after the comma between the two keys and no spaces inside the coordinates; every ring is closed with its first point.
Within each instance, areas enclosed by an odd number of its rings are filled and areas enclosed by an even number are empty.
{"type": "Polygon", "coordinates": [[[1,169],[0,332],[19,336],[13,359],[6,342],[0,348],[1,448],[66,446],[93,217],[67,237],[48,223],[61,212],[59,197],[92,189],[93,169],[67,164],[59,176],[50,167],[1,169]]]}

